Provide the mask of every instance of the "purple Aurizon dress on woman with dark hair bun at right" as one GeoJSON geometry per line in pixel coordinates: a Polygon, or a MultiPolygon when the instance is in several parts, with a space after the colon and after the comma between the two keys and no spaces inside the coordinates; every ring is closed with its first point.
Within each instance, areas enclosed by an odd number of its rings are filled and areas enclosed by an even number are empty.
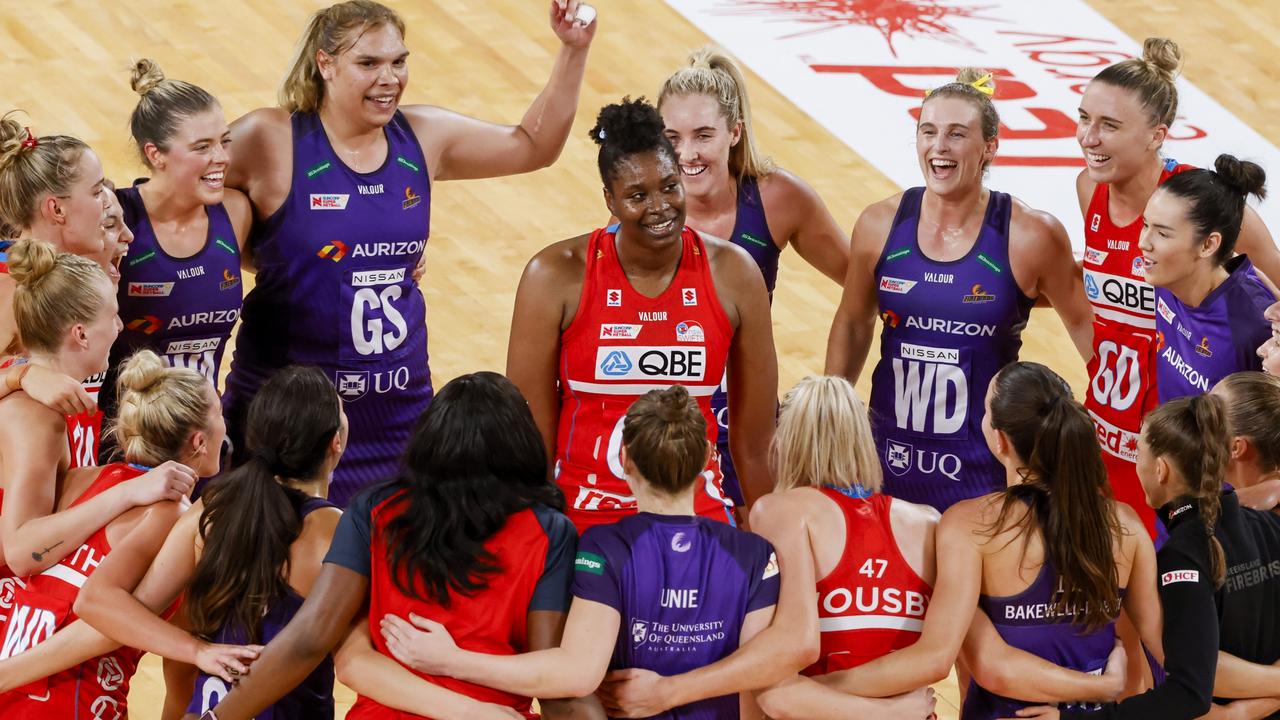
{"type": "Polygon", "coordinates": [[[1247,255],[1226,263],[1228,275],[1196,307],[1156,288],[1156,387],[1160,401],[1208,392],[1239,370],[1261,370],[1258,346],[1271,338],[1262,316],[1275,302],[1247,255]]]}

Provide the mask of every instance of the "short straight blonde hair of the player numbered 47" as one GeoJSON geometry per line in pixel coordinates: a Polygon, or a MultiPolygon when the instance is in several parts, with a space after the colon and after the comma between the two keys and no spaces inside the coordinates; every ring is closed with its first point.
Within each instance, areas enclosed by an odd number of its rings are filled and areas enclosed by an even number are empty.
{"type": "Polygon", "coordinates": [[[787,391],[773,434],[776,491],[884,483],[867,406],[854,386],[835,375],[809,375],[787,391]]]}

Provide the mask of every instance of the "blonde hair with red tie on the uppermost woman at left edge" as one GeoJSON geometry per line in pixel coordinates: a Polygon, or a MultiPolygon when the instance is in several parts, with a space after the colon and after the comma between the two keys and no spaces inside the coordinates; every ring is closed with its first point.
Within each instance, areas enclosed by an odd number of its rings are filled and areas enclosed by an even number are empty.
{"type": "Polygon", "coordinates": [[[0,117],[0,225],[18,234],[36,219],[46,195],[69,195],[79,179],[84,141],[50,135],[36,137],[18,123],[18,110],[0,117]]]}

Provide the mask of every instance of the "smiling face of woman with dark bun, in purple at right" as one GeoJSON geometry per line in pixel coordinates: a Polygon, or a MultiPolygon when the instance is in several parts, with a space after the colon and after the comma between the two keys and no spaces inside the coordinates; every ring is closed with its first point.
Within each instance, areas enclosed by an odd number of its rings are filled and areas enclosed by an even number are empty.
{"type": "Polygon", "coordinates": [[[1142,250],[1147,282],[1155,287],[1175,287],[1202,273],[1212,273],[1217,266],[1213,256],[1222,236],[1213,232],[1197,237],[1188,210],[1187,200],[1164,188],[1147,201],[1138,249],[1142,250]]]}

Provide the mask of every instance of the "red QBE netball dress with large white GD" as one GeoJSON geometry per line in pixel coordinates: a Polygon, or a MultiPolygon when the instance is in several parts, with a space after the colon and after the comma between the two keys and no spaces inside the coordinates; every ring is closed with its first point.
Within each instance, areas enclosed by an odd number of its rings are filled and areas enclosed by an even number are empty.
{"type": "MultiPolygon", "coordinates": [[[[1166,160],[1160,174],[1192,169],[1166,160]]],[[[1093,305],[1093,359],[1084,406],[1103,452],[1138,460],[1142,419],[1156,407],[1156,291],[1147,283],[1138,237],[1142,215],[1117,227],[1108,211],[1110,186],[1098,183],[1084,222],[1084,292],[1093,305]]]]}

